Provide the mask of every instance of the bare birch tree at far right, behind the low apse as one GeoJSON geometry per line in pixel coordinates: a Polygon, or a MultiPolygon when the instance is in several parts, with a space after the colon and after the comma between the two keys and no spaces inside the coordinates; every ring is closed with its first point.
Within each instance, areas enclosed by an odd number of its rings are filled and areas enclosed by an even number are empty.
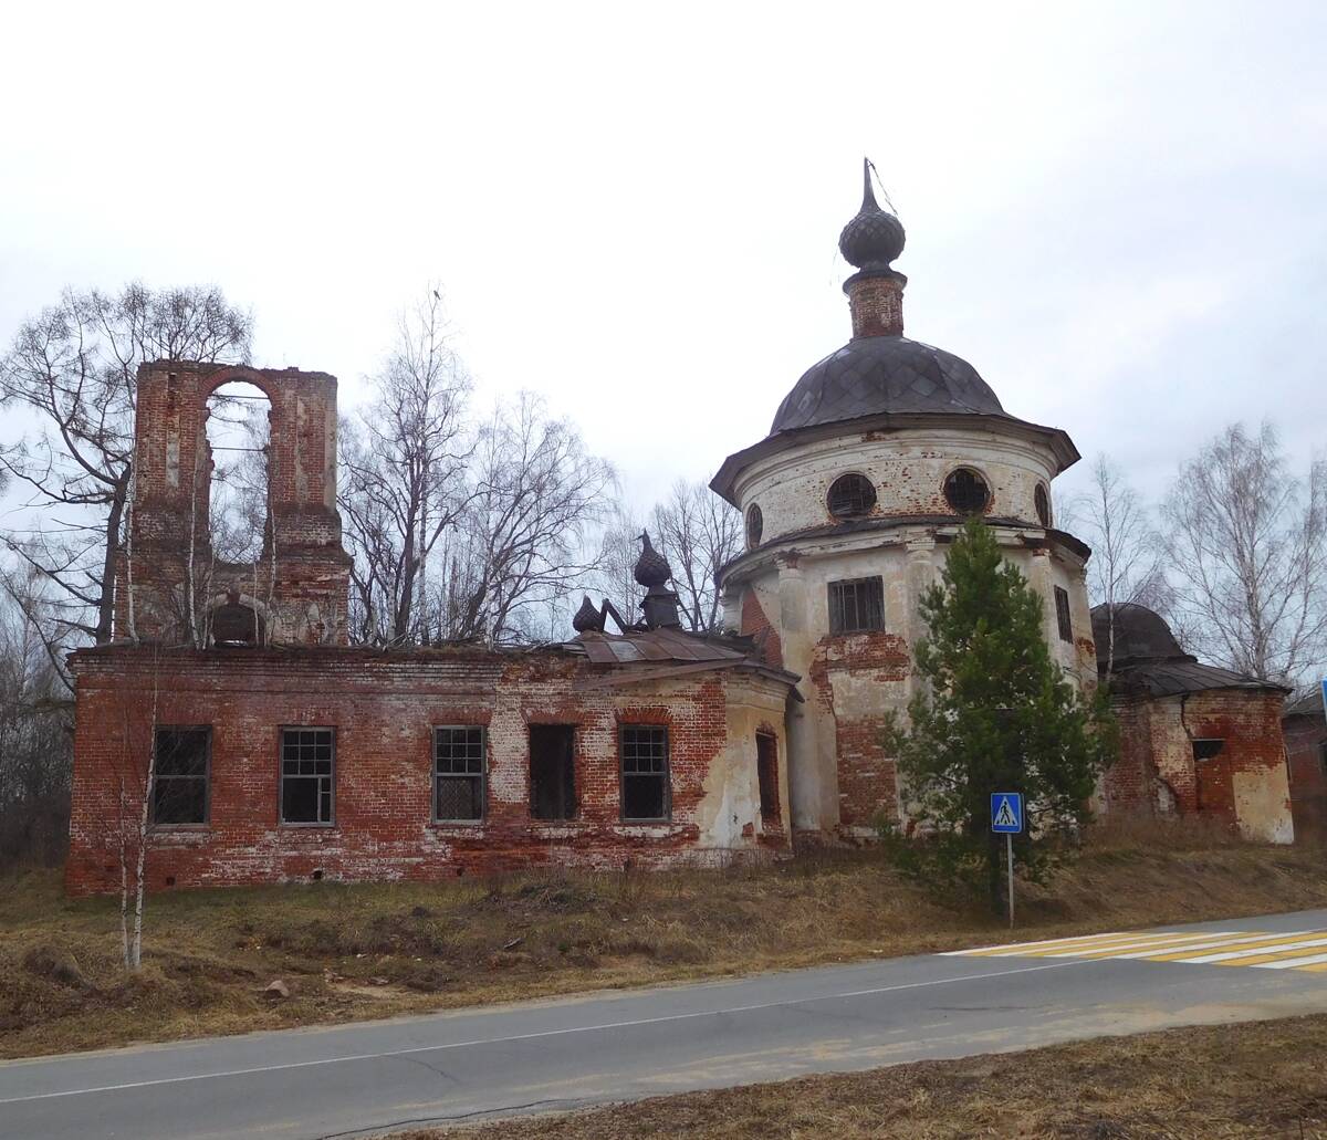
{"type": "Polygon", "coordinates": [[[1327,463],[1294,478],[1270,423],[1225,429],[1161,508],[1177,610],[1216,661],[1294,683],[1327,652],[1327,463]]]}

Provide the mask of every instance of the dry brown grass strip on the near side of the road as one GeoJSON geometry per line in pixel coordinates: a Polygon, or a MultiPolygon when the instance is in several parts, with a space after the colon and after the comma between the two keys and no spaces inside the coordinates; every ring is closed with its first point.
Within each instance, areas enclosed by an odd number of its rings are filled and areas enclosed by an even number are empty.
{"type": "Polygon", "coordinates": [[[398,1140],[1327,1140],[1327,1015],[662,1096],[398,1140]]]}

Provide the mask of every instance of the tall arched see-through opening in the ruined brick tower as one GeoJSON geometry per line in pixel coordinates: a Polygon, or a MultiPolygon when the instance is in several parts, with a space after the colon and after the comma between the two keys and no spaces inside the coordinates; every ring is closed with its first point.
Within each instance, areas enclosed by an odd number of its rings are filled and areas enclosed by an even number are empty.
{"type": "Polygon", "coordinates": [[[247,564],[263,556],[268,528],[272,403],[257,385],[223,384],[207,398],[207,519],[212,556],[247,564]]]}

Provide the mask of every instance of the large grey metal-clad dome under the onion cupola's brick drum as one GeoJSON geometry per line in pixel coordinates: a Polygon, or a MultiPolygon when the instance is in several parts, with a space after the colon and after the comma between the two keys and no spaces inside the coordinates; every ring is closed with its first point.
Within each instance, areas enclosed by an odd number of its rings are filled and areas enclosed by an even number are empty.
{"type": "Polygon", "coordinates": [[[977,369],[943,349],[901,336],[859,337],[807,369],[770,434],[884,413],[1003,415],[977,369]]]}

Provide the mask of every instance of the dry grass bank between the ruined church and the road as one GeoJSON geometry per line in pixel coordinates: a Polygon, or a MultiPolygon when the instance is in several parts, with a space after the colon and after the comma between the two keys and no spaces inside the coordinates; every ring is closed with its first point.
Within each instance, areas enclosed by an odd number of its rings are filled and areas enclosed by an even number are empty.
{"type": "MultiPolygon", "coordinates": [[[[1177,831],[1093,837],[1020,894],[1019,938],[1327,905],[1324,853],[1177,831]]],[[[143,969],[118,904],[0,881],[0,1056],[924,953],[1009,937],[871,853],[766,868],[532,873],[153,896],[143,969]],[[263,987],[281,978],[291,997],[263,987]]]]}

